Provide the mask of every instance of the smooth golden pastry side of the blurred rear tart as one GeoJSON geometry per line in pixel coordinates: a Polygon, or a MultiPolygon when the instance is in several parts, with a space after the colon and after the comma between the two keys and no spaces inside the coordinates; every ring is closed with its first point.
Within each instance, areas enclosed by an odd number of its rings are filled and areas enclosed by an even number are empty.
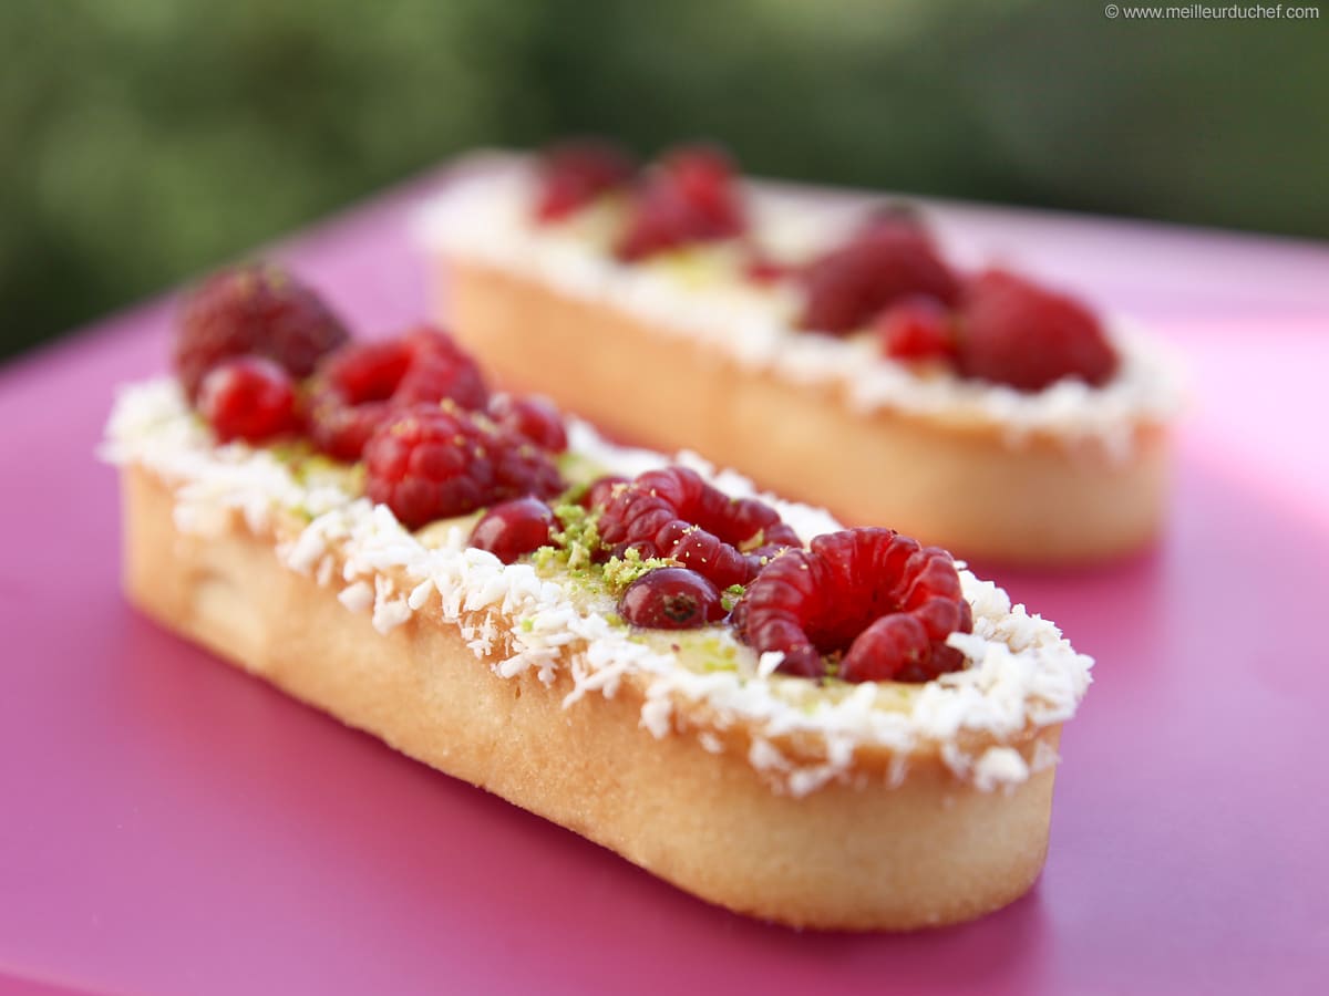
{"type": "Polygon", "coordinates": [[[439,313],[505,385],[549,394],[634,444],[694,449],[841,522],[890,526],[961,556],[1084,563],[1147,544],[1167,498],[1167,434],[1136,429],[1130,457],[1094,442],[889,410],[831,386],[744,369],[639,317],[532,278],[439,259],[439,313]]]}

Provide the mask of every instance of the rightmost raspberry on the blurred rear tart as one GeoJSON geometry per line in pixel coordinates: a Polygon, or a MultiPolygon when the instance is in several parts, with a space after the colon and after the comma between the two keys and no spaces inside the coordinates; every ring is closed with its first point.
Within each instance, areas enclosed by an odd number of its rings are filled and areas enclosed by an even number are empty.
{"type": "Polygon", "coordinates": [[[1116,372],[1116,352],[1092,312],[1002,270],[969,284],[960,323],[966,377],[1042,390],[1063,377],[1098,386],[1116,372]]]}

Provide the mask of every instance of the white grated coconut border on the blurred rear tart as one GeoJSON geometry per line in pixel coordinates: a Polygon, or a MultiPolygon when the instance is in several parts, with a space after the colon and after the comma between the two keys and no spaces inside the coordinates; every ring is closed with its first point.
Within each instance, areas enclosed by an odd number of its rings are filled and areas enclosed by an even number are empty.
{"type": "MultiPolygon", "coordinates": [[[[864,412],[892,409],[942,422],[990,425],[1011,445],[1033,433],[1067,445],[1092,440],[1108,454],[1126,458],[1142,425],[1171,420],[1181,404],[1175,360],[1127,323],[1111,329],[1122,367],[1100,388],[1063,380],[1030,393],[958,376],[920,374],[880,356],[869,341],[796,329],[796,295],[787,287],[772,291],[735,280],[732,266],[723,266],[728,251],[723,247],[698,250],[691,262],[623,266],[605,251],[605,210],[540,227],[530,223],[532,199],[525,159],[486,157],[462,170],[420,211],[416,228],[435,251],[630,312],[654,329],[720,349],[750,369],[777,373],[792,384],[835,384],[864,412]]],[[[784,186],[750,183],[750,203],[758,243],[799,259],[835,244],[852,216],[819,208],[784,186]]]]}

